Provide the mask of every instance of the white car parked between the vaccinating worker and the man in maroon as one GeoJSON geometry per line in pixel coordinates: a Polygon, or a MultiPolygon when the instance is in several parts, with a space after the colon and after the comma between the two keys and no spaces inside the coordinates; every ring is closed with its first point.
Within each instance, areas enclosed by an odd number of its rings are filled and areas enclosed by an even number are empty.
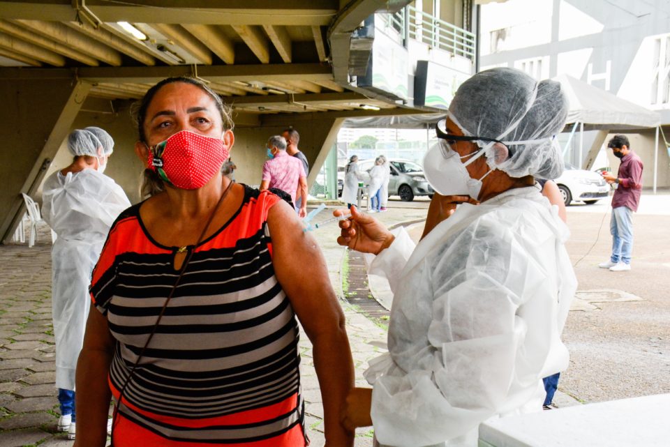
{"type": "Polygon", "coordinates": [[[570,202],[595,204],[598,200],[607,197],[611,190],[597,172],[578,169],[569,163],[565,163],[563,175],[554,181],[563,195],[565,206],[568,206],[570,202]]]}

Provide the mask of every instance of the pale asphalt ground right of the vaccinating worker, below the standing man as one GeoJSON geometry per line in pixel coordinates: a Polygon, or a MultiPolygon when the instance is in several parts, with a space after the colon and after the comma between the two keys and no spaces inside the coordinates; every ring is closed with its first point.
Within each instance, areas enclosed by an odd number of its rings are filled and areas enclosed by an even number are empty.
{"type": "Polygon", "coordinates": [[[591,310],[569,312],[563,340],[570,365],[558,387],[582,402],[670,393],[670,195],[643,195],[628,272],[597,266],[611,251],[610,213],[609,201],[568,207],[567,250],[578,294],[609,291],[606,300],[624,292],[641,301],[595,302],[591,310]]]}

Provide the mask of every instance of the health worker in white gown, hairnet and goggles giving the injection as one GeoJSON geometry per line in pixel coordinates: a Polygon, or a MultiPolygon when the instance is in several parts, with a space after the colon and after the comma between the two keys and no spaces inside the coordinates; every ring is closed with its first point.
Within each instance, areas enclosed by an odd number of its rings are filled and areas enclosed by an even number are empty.
{"type": "MultiPolygon", "coordinates": [[[[389,352],[370,362],[345,425],[382,446],[477,446],[489,418],[541,411],[542,378],[564,370],[560,340],[576,279],[558,208],[535,188],[563,160],[560,84],[494,68],[464,82],[424,173],[435,194],[424,237],[352,209],[338,243],[376,255],[394,291],[389,352]]],[[[335,211],[336,215],[341,211],[335,211]]]]}

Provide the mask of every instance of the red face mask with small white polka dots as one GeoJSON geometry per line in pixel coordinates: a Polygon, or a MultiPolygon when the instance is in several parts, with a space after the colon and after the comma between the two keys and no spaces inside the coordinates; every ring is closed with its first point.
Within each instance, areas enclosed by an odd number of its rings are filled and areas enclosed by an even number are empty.
{"type": "Polygon", "coordinates": [[[149,169],[183,190],[196,190],[228,160],[229,151],[219,138],[181,130],[149,148],[149,169]]]}

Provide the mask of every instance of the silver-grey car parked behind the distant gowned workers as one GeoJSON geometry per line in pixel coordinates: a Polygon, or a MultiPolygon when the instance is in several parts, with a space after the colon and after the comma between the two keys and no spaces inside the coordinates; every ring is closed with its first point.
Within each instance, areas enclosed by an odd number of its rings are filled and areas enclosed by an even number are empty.
{"type": "MultiPolygon", "coordinates": [[[[433,197],[433,188],[424,176],[424,168],[410,160],[389,158],[391,179],[389,179],[389,195],[399,195],[403,202],[412,202],[417,195],[433,197]]],[[[374,158],[359,160],[358,167],[369,171],[375,164],[374,158]]]]}

